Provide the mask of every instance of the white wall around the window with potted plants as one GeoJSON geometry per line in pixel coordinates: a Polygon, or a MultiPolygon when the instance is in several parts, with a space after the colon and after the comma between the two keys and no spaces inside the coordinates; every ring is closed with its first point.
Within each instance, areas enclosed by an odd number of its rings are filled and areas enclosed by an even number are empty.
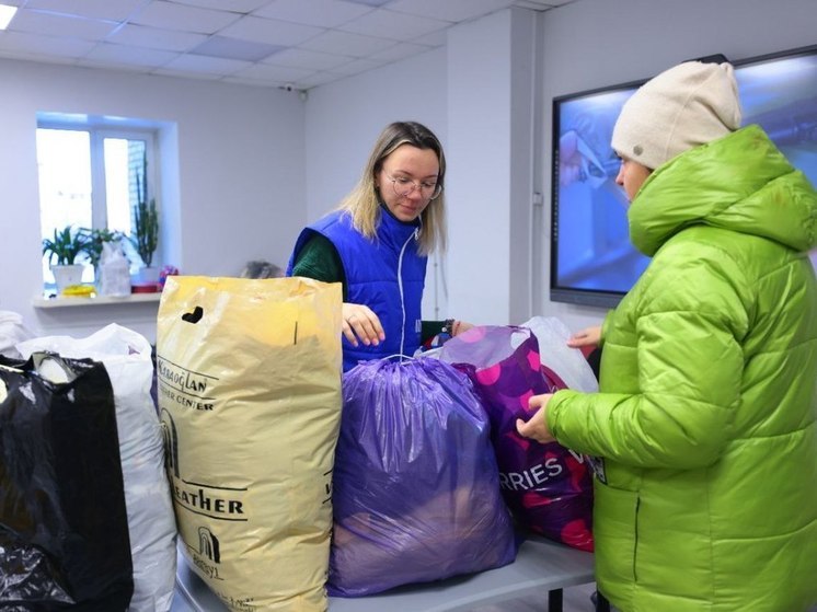
{"type": "MultiPolygon", "coordinates": [[[[303,103],[278,90],[0,60],[0,310],[35,333],[87,335],[117,321],[156,336],[156,304],[34,309],[42,293],[35,147],[41,111],[174,125],[171,195],[184,274],[237,275],[251,258],[283,263],[307,221],[303,103]]],[[[166,187],[166,185],[164,186],[166,187]]],[[[163,189],[163,194],[166,189],[163,189]]]]}

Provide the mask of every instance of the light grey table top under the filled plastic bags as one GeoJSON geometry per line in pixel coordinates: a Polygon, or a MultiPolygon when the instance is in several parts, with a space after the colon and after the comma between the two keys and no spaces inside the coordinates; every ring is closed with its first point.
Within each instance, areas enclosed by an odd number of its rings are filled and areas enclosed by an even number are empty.
{"type": "MultiPolygon", "coordinates": [[[[594,581],[592,561],[591,553],[533,536],[522,542],[516,561],[505,567],[437,582],[407,585],[367,597],[330,598],[329,611],[463,612],[546,590],[549,612],[561,612],[563,588],[594,581]]],[[[174,607],[174,610],[227,610],[204,580],[191,569],[181,552],[176,589],[188,605],[174,607]]]]}

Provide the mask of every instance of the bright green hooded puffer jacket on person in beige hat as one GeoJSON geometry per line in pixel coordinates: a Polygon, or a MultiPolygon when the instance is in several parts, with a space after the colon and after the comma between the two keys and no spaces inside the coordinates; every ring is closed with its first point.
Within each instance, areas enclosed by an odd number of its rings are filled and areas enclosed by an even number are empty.
{"type": "Polygon", "coordinates": [[[750,126],[660,166],[629,217],[653,261],[605,321],[600,392],[560,391],[546,413],[560,442],[603,458],[599,589],[625,612],[803,612],[817,194],[750,126]]]}

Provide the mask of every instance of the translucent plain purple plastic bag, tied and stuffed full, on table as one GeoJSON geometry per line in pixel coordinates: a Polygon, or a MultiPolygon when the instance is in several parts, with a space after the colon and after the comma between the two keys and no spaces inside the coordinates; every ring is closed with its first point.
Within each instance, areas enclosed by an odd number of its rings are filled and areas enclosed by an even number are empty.
{"type": "Polygon", "coordinates": [[[365,361],[344,376],[343,395],[330,594],[516,558],[488,418],[468,377],[437,359],[365,361]]]}

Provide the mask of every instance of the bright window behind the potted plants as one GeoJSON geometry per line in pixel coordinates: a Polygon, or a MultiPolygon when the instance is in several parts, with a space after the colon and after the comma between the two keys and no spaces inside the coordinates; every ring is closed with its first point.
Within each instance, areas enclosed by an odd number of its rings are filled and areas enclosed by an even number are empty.
{"type": "MultiPolygon", "coordinates": [[[[72,120],[49,114],[37,124],[37,166],[39,173],[41,232],[72,226],[107,229],[130,235],[140,197],[156,197],[158,185],[156,131],[123,129],[104,122],[72,120]]],[[[123,241],[131,272],[142,262],[128,240],[123,241]]],[[[158,259],[158,257],[157,257],[158,259]]],[[[45,288],[54,287],[47,257],[43,257],[45,288]]],[[[87,266],[83,282],[93,282],[94,270],[87,266]]]]}

